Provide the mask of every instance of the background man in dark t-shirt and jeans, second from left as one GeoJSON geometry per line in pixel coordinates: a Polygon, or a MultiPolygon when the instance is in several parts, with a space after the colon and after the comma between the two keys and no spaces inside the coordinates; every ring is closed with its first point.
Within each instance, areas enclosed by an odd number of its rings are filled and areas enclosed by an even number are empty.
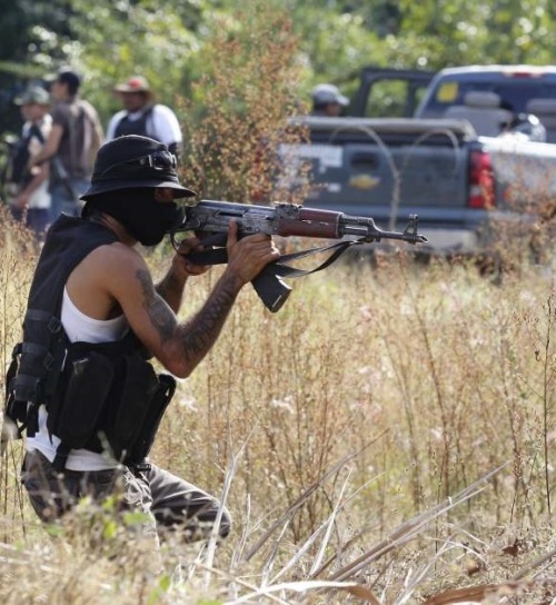
{"type": "Polygon", "coordinates": [[[51,85],[54,101],[52,129],[34,165],[50,160],[51,220],[61,212],[78,216],[79,196],[90,185],[95,155],[102,141],[97,110],[79,97],[81,78],[70,69],[58,72],[51,85]]]}

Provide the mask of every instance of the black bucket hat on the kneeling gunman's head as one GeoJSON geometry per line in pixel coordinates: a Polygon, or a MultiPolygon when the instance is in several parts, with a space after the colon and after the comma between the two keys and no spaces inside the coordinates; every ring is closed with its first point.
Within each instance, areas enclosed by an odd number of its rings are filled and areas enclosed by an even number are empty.
{"type": "Polygon", "coordinates": [[[99,149],[91,185],[81,199],[89,201],[109,191],[152,187],[173,189],[175,198],[197,195],[180,185],[176,156],[166,145],[148,137],[127,135],[99,149]]]}

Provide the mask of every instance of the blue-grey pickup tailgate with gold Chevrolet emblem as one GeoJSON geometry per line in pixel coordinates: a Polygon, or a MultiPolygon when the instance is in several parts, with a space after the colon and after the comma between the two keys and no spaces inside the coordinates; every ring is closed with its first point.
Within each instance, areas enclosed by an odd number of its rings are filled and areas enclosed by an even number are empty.
{"type": "Polygon", "coordinates": [[[373,216],[390,229],[418,214],[424,232],[475,220],[467,208],[470,132],[461,122],[325,118],[308,126],[310,145],[280,148],[290,178],[311,162],[305,205],[373,216]]]}

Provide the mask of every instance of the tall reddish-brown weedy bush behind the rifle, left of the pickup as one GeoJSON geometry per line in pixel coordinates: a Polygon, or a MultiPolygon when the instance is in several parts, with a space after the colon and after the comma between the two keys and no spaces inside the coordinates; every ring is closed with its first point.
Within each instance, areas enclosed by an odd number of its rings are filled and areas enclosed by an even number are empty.
{"type": "Polygon", "coordinates": [[[215,19],[203,75],[181,109],[183,173],[201,197],[276,199],[270,185],[279,169],[277,146],[301,136],[287,129],[287,118],[299,111],[297,48],[284,11],[255,4],[232,21],[224,13],[215,19]]]}

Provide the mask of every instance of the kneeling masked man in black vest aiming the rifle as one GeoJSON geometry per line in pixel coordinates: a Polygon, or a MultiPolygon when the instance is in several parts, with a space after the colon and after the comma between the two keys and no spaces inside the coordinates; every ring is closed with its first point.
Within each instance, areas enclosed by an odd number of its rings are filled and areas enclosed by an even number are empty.
{"type": "MultiPolygon", "coordinates": [[[[279,252],[262,234],[238,240],[231,224],[226,270],[200,310],[178,320],[186,282],[207,270],[188,261],[199,241],[180,244],[158,285],[135,244],[160,242],[179,217],[175,199],[190,196],[165,145],[125,136],[100,148],[82,218],[62,215],[48,231],[19,368],[7,378],[7,418],[18,423],[19,410],[19,421],[28,423],[23,485],[43,520],[120,485],[122,508],[146,513],[152,535],[177,526],[189,540],[210,534],[220,504],[147,462],[175,387],[172,376],[157,375],[147,359],[189,376],[218,339],[240,289],[279,252]]],[[[219,535],[229,529],[222,509],[219,535]]]]}

